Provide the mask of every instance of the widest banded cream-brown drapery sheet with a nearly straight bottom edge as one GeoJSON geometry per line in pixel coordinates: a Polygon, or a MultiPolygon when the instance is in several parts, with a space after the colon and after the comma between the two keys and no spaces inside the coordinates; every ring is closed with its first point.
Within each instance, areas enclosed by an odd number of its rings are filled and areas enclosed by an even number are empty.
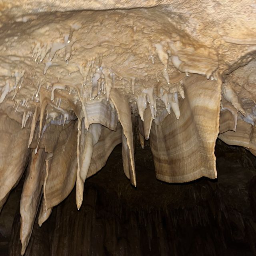
{"type": "Polygon", "coordinates": [[[191,75],[183,80],[187,95],[180,119],[174,113],[152,124],[150,147],[156,177],[188,182],[202,176],[217,178],[214,147],[219,132],[221,82],[191,75]]]}

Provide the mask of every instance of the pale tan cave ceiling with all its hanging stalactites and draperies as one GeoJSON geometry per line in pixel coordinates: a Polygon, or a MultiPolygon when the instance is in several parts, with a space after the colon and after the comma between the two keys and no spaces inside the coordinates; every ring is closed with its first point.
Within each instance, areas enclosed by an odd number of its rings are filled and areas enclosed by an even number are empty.
{"type": "Polygon", "coordinates": [[[75,183],[80,208],[119,143],[134,186],[137,137],[150,137],[166,182],[216,178],[219,132],[256,153],[254,1],[15,0],[0,11],[0,208],[29,163],[22,254],[42,194],[40,225],[75,183]]]}

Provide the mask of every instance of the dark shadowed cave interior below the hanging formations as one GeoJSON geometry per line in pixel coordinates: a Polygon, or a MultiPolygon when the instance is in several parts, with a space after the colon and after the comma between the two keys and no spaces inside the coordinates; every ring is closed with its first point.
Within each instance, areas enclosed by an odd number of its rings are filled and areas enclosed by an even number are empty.
{"type": "MultiPolygon", "coordinates": [[[[186,184],[156,180],[149,144],[136,145],[137,187],[122,172],[118,145],[106,166],[75,190],[39,228],[26,256],[256,255],[256,158],[217,140],[218,179],[186,184]]],[[[0,256],[20,255],[22,182],[0,215],[0,256]]]]}

